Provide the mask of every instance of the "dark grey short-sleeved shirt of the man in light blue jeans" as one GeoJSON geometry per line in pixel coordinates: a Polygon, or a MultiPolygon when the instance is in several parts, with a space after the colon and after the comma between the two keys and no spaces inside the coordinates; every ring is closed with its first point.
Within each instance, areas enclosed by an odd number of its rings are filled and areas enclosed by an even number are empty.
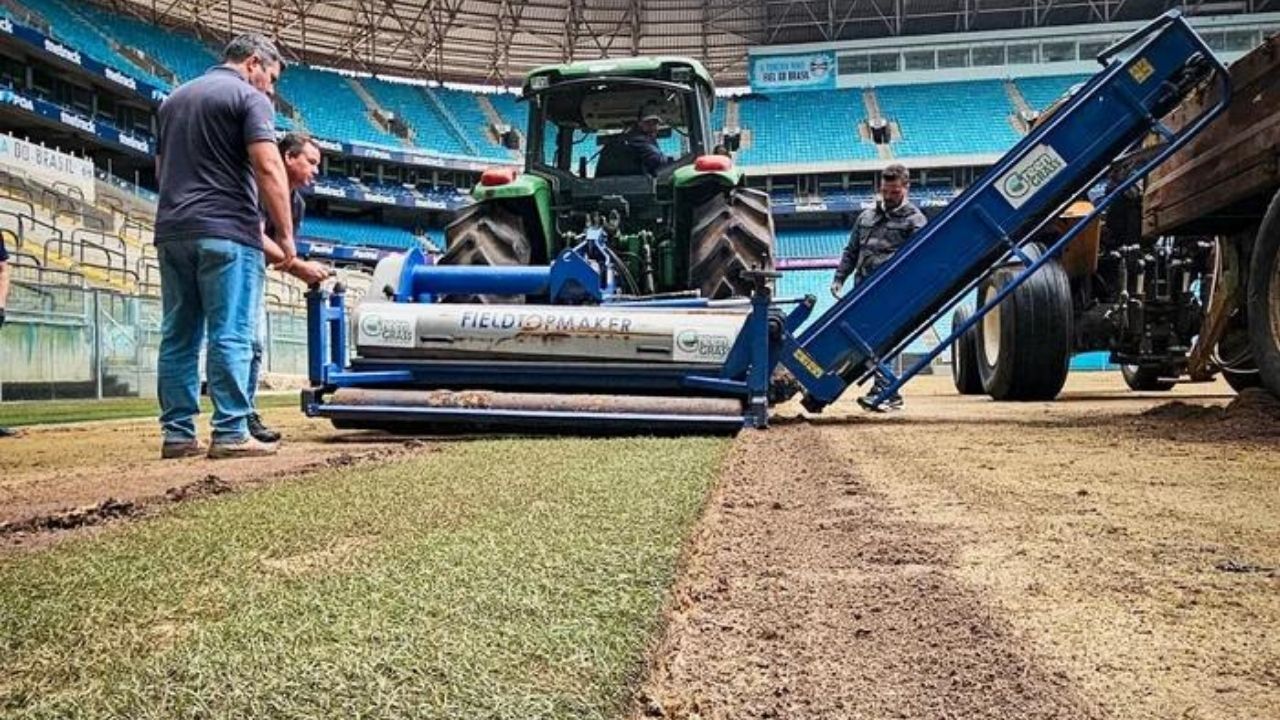
{"type": "Polygon", "coordinates": [[[218,65],[160,105],[156,243],[218,237],[261,249],[253,142],[275,141],[275,110],[232,68],[218,65]]]}

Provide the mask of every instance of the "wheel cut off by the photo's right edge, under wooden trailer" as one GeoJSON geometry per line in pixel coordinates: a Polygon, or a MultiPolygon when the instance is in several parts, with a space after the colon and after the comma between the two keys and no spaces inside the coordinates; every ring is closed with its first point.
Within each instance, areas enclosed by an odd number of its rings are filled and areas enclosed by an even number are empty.
{"type": "MultiPolygon", "coordinates": [[[[1280,397],[1280,192],[1258,228],[1249,259],[1245,311],[1258,384],[1280,397]]],[[[1230,378],[1228,379],[1230,382],[1230,378]]]]}

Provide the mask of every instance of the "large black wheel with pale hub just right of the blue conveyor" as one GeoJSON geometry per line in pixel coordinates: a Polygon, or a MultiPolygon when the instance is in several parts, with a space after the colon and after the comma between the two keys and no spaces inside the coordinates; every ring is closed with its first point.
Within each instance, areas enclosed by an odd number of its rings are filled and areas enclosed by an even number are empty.
{"type": "MultiPolygon", "coordinates": [[[[986,305],[1021,272],[1001,268],[978,287],[986,305]]],[[[1071,361],[1071,283],[1050,261],[977,325],[978,374],[995,400],[1053,400],[1071,361]]]]}

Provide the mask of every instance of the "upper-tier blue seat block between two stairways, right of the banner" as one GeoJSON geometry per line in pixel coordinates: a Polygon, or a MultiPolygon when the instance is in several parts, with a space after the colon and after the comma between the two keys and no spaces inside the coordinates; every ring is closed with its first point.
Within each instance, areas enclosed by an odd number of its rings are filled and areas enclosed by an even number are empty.
{"type": "Polygon", "coordinates": [[[901,129],[892,143],[897,158],[1004,152],[1019,140],[1001,81],[877,87],[876,96],[886,119],[901,129]]]}

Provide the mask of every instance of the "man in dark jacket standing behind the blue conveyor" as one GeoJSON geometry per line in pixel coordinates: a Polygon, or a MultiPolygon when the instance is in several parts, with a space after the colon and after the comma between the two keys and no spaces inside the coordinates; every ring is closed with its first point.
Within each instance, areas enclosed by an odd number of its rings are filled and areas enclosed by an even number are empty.
{"type": "MultiPolygon", "coordinates": [[[[906,199],[911,178],[906,168],[892,164],[881,173],[881,199],[874,208],[868,208],[858,215],[858,223],[849,236],[849,245],[840,258],[836,277],[831,281],[831,295],[840,297],[845,281],[854,275],[859,283],[888,261],[895,252],[924,227],[925,218],[920,209],[906,199]]],[[[883,387],[879,375],[870,395],[883,387]]],[[[888,407],[901,407],[902,397],[897,393],[886,401],[888,407]]]]}

